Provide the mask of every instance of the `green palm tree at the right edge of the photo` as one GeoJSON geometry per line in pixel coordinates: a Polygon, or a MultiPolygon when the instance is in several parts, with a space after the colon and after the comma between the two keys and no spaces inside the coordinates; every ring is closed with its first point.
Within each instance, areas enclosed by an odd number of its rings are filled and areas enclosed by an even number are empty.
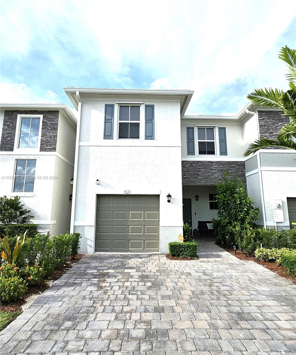
{"type": "Polygon", "coordinates": [[[276,140],[260,138],[249,144],[244,157],[257,152],[261,148],[281,147],[296,151],[296,50],[282,47],[279,58],[286,62],[289,73],[286,74],[290,90],[284,92],[278,89],[255,89],[247,98],[254,105],[262,107],[275,107],[290,117],[290,123],[279,131],[276,140]]]}

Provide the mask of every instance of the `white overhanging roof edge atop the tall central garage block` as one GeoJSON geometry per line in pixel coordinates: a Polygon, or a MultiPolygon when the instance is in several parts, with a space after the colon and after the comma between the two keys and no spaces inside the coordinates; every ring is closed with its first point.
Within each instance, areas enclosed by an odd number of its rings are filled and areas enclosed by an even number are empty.
{"type": "Polygon", "coordinates": [[[76,91],[82,94],[138,94],[138,95],[185,95],[187,98],[181,107],[181,117],[184,115],[191,97],[194,93],[192,90],[162,90],[162,89],[103,89],[103,88],[79,88],[79,87],[64,87],[66,95],[69,97],[75,108],[78,108],[78,101],[76,98],[76,91]]]}

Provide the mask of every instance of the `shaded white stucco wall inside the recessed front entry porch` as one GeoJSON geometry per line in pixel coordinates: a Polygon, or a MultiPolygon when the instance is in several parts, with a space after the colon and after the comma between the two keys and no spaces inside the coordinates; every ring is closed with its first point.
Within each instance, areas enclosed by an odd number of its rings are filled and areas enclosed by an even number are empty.
{"type": "Polygon", "coordinates": [[[217,210],[210,209],[209,193],[216,193],[216,186],[183,186],[183,198],[191,198],[192,230],[198,229],[198,221],[217,218],[217,210]],[[195,196],[198,195],[198,201],[195,196]]]}

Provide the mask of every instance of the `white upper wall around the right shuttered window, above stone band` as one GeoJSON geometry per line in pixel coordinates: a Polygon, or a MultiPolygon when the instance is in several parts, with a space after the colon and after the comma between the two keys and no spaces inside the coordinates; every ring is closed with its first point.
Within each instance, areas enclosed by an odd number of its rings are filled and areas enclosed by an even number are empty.
{"type": "Polygon", "coordinates": [[[195,158],[218,158],[221,160],[229,158],[242,158],[243,154],[243,138],[242,138],[242,126],[240,122],[234,123],[233,120],[181,120],[181,141],[182,141],[182,159],[190,160],[195,158]],[[198,155],[198,136],[195,125],[213,125],[215,129],[215,155],[198,155]],[[195,143],[195,155],[187,155],[187,132],[186,127],[194,127],[194,143],[195,143]],[[219,155],[219,133],[218,127],[226,127],[226,140],[227,140],[227,155],[219,155]]]}

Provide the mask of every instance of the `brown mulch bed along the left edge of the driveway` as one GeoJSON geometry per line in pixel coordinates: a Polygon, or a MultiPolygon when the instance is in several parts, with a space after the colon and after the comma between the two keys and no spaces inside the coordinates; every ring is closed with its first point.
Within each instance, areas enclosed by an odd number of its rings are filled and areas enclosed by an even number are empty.
{"type": "Polygon", "coordinates": [[[50,285],[47,284],[47,281],[49,281],[49,280],[53,280],[53,281],[58,280],[69,269],[71,269],[71,267],[74,264],[79,262],[79,260],[81,258],[83,258],[83,257],[84,257],[84,254],[77,254],[73,260],[69,260],[68,263],[66,263],[66,264],[62,265],[60,268],[54,270],[53,273],[51,275],[49,275],[49,277],[47,279],[45,279],[44,282],[39,284],[37,287],[28,286],[27,292],[25,293],[25,295],[23,295],[23,297],[20,298],[20,300],[18,300],[15,303],[11,303],[9,305],[0,306],[0,311],[4,311],[4,312],[21,311],[22,310],[22,304],[26,301],[26,299],[28,297],[30,297],[31,295],[37,295],[37,294],[41,295],[44,291],[46,291],[50,287],[50,285]]]}

